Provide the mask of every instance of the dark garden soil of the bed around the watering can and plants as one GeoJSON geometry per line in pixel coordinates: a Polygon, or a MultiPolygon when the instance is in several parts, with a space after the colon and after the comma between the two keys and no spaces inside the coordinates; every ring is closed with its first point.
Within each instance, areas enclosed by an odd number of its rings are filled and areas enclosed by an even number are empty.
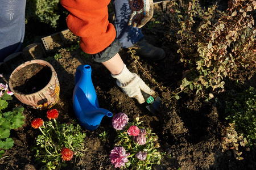
{"type": "MultiPolygon", "coordinates": [[[[166,51],[166,58],[159,62],[151,62],[139,59],[139,63],[146,70],[152,82],[142,67],[134,62],[130,53],[121,50],[120,54],[128,69],[137,73],[143,80],[156,91],[156,96],[162,100],[162,104],[156,114],[146,109],[146,104],[138,104],[135,99],[127,97],[115,84],[109,71],[100,63],[94,62],[90,56],[81,54],[77,49],[78,37],[71,32],[64,35],[63,41],[56,41],[49,46],[46,56],[54,56],[56,53],[61,58],[47,58],[57,72],[60,81],[60,100],[53,106],[60,115],[57,121],[71,122],[76,120],[72,105],[72,94],[75,87],[75,71],[77,66],[88,64],[92,67],[92,81],[97,93],[100,108],[108,109],[113,114],[126,113],[130,120],[141,117],[143,126],[152,129],[159,137],[159,152],[164,153],[160,165],[154,169],[256,169],[256,150],[251,148],[246,151],[241,148],[244,160],[236,160],[232,151],[221,152],[221,130],[228,126],[225,121],[224,108],[217,107],[213,102],[204,102],[197,97],[195,92],[180,93],[180,99],[176,100],[172,92],[175,91],[177,82],[182,78],[185,68],[179,62],[175,34],[177,32],[174,19],[167,10],[155,6],[155,15],[161,16],[152,19],[149,26],[143,27],[146,40],[152,45],[159,46],[166,51]],[[154,22],[158,20],[160,24],[154,22]],[[76,49],[74,49],[76,47],[76,49]],[[69,49],[69,50],[67,50],[69,49]]],[[[44,58],[46,59],[46,58],[44,58]]],[[[18,65],[17,65],[18,66],[18,65]]],[[[10,73],[5,74],[8,79],[10,73]]],[[[236,90],[241,92],[244,88],[252,86],[256,88],[256,76],[239,77],[240,86],[234,80],[226,80],[225,92],[236,90]]],[[[0,83],[3,83],[0,80],[0,83]]],[[[225,92],[216,95],[220,103],[225,103],[225,92]]],[[[156,97],[154,96],[154,97],[156,97]]],[[[36,117],[47,120],[46,111],[38,111],[28,108],[13,97],[14,104],[23,105],[25,124],[22,128],[12,130],[11,138],[14,139],[14,147],[7,150],[0,159],[0,169],[40,169],[42,163],[35,161],[35,138],[40,131],[31,128],[31,120],[36,117]]],[[[110,150],[114,147],[115,130],[112,128],[112,118],[104,117],[100,126],[86,133],[85,146],[87,150],[84,157],[72,159],[63,169],[115,169],[110,163],[110,150]],[[103,131],[108,133],[106,141],[99,137],[103,131]]]]}

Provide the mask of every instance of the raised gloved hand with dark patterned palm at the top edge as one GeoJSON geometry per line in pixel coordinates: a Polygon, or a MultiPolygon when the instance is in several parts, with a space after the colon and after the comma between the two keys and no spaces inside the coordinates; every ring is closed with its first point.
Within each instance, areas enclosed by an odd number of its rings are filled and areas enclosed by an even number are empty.
{"type": "Polygon", "coordinates": [[[153,16],[154,2],[153,0],[128,0],[131,8],[131,16],[129,24],[133,24],[133,27],[141,28],[146,24],[153,16]]]}

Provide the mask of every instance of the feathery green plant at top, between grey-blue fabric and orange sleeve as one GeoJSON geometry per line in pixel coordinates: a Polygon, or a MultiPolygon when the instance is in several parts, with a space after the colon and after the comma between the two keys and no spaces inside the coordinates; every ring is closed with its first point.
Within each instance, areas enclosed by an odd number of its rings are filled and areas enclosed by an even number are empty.
{"type": "Polygon", "coordinates": [[[57,20],[60,18],[57,12],[59,2],[60,0],[27,0],[26,23],[30,22],[30,20],[34,20],[50,24],[52,28],[56,28],[57,20]]]}

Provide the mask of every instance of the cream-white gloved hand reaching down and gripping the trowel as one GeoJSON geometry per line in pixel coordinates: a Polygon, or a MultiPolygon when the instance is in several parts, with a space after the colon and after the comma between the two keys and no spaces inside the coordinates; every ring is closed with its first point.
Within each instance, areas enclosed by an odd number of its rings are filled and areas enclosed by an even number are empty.
{"type": "Polygon", "coordinates": [[[118,75],[111,74],[113,78],[117,79],[117,85],[122,88],[122,91],[129,97],[135,97],[138,102],[144,103],[144,97],[141,90],[146,94],[154,95],[155,91],[151,90],[141,78],[135,73],[131,73],[126,65],[123,65],[123,70],[118,75]]]}

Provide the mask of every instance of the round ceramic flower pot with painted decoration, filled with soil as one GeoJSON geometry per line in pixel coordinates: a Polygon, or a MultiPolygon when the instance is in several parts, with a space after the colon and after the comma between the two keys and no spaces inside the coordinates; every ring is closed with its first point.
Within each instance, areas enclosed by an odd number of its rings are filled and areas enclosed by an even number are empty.
{"type": "Polygon", "coordinates": [[[10,90],[28,107],[49,109],[57,103],[60,84],[52,65],[41,59],[22,63],[11,73],[10,90]]]}

